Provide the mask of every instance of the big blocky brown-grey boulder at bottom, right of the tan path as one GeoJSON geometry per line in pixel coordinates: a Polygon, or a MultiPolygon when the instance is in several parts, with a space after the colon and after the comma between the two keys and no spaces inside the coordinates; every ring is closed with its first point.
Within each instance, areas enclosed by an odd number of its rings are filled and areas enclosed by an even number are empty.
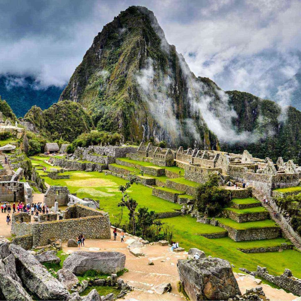
{"type": "Polygon", "coordinates": [[[181,259],[177,266],[190,300],[228,300],[241,295],[231,265],[224,259],[181,259]]]}

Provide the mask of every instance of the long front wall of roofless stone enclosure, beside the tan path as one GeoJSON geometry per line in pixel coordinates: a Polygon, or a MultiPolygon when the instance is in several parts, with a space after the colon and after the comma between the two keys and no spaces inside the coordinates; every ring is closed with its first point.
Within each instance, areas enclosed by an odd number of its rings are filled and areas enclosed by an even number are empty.
{"type": "Polygon", "coordinates": [[[110,238],[109,214],[103,211],[99,211],[99,213],[98,216],[33,224],[33,247],[47,245],[50,238],[68,240],[75,238],[80,233],[83,233],[86,238],[110,238]]]}

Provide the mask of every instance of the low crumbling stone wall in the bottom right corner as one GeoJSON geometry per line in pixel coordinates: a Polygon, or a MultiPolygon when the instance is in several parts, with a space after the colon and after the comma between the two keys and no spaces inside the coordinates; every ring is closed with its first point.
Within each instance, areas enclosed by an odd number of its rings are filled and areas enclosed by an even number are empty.
{"type": "Polygon", "coordinates": [[[268,280],[284,290],[288,290],[291,293],[301,296],[301,279],[295,278],[289,269],[285,269],[284,273],[280,276],[271,275],[268,273],[267,268],[262,268],[257,265],[256,274],[265,280],[268,280]]]}

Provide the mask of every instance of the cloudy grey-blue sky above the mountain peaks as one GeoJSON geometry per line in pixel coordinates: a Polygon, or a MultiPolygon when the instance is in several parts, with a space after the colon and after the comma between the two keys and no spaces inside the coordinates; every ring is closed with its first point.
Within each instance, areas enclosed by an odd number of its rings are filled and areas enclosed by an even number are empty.
{"type": "Polygon", "coordinates": [[[130,5],[154,11],[195,75],[225,90],[267,97],[301,67],[301,1],[0,0],[0,74],[66,85],[94,36],[130,5]]]}

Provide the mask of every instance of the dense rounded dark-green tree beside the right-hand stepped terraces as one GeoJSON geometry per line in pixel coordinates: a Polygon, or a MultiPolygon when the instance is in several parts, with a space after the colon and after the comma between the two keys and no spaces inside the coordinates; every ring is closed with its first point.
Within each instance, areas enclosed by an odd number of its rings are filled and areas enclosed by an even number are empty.
{"type": "Polygon", "coordinates": [[[219,177],[214,173],[197,188],[196,197],[197,209],[206,217],[217,216],[231,200],[230,191],[219,187],[219,177]]]}

